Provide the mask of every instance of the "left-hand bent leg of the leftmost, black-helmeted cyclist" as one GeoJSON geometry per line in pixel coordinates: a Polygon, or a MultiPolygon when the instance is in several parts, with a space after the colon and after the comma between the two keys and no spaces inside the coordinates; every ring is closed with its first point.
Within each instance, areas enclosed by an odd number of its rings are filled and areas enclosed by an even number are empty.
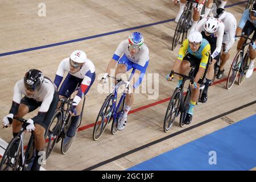
{"type": "MultiPolygon", "coordinates": [[[[23,118],[24,115],[27,113],[30,113],[31,111],[35,110],[38,108],[39,103],[36,102],[32,98],[28,97],[23,97],[22,100],[20,101],[18,113],[15,115],[16,117],[23,118]]],[[[18,135],[20,131],[20,127],[22,126],[22,123],[17,121],[16,119],[13,119],[13,136],[15,137],[18,135]]]]}

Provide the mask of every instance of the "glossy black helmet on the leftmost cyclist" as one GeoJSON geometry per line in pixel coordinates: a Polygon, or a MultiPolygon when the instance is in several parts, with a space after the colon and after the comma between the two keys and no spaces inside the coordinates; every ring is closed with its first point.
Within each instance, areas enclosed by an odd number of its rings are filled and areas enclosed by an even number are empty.
{"type": "Polygon", "coordinates": [[[36,91],[40,89],[44,80],[43,73],[38,69],[30,69],[24,76],[24,85],[27,90],[36,91]]]}

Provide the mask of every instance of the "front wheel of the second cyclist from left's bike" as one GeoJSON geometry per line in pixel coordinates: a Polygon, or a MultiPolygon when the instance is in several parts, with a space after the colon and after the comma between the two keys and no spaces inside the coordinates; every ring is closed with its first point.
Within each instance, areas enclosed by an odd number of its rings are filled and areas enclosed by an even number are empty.
{"type": "Polygon", "coordinates": [[[61,126],[61,112],[56,111],[52,117],[52,121],[46,131],[44,139],[46,139],[47,145],[44,146],[44,151],[46,152],[46,159],[51,155],[53,148],[58,139],[61,126]]]}

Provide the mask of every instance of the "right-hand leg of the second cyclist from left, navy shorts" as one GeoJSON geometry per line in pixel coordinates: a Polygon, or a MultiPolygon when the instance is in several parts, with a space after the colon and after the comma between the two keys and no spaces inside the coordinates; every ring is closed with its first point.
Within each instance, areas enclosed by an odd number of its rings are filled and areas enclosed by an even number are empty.
{"type": "Polygon", "coordinates": [[[74,137],[76,134],[76,129],[77,129],[77,123],[79,122],[79,116],[82,111],[82,104],[84,103],[86,93],[88,93],[90,87],[92,86],[94,80],[95,80],[96,74],[92,74],[92,80],[90,81],[90,85],[88,86],[88,89],[85,90],[85,93],[82,93],[80,90],[80,86],[76,89],[76,91],[72,94],[72,97],[74,98],[75,96],[79,96],[82,99],[80,100],[79,104],[76,106],[76,111],[77,115],[72,116],[71,118],[71,125],[69,126],[69,129],[67,131],[67,136],[68,137],[74,137]]]}

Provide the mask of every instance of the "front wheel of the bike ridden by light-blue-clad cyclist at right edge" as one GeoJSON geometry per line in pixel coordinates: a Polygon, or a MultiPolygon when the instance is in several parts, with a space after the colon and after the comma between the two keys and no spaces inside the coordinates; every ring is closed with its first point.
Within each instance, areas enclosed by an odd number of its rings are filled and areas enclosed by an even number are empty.
{"type": "Polygon", "coordinates": [[[230,89],[236,80],[238,71],[241,66],[241,60],[242,60],[241,56],[242,56],[242,53],[241,51],[239,51],[236,57],[234,58],[233,63],[231,64],[231,67],[229,69],[228,80],[226,81],[226,89],[230,89]]]}

